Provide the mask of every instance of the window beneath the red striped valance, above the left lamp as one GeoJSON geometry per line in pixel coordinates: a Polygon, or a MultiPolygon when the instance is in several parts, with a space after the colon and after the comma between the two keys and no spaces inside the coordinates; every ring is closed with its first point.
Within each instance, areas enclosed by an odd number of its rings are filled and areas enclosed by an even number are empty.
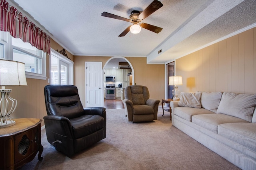
{"type": "Polygon", "coordinates": [[[46,53],[0,31],[0,58],[25,63],[26,78],[46,80],[46,53]]]}

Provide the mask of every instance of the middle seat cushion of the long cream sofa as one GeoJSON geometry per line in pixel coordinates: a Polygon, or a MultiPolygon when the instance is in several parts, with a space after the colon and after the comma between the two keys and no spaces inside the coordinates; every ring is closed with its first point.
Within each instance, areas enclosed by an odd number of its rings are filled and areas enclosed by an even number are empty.
{"type": "Polygon", "coordinates": [[[225,115],[225,114],[203,114],[192,116],[192,123],[204,127],[214,133],[218,133],[218,125],[223,123],[237,123],[237,122],[247,122],[244,119],[238,117],[225,115]]]}

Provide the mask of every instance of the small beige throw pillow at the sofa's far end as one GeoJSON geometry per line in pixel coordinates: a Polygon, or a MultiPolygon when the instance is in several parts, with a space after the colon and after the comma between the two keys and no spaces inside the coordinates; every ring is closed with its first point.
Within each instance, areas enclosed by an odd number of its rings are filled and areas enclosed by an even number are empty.
{"type": "Polygon", "coordinates": [[[196,92],[196,93],[181,92],[179,106],[195,107],[200,109],[201,108],[200,98],[201,98],[201,92],[196,92]]]}

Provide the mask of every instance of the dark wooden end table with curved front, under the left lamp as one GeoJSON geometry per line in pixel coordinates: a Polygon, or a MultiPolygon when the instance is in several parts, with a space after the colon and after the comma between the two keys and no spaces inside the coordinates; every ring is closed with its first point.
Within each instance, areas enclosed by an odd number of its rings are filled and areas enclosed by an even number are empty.
{"type": "Polygon", "coordinates": [[[41,119],[14,119],[15,125],[0,128],[0,169],[17,169],[41,154],[41,119]]]}

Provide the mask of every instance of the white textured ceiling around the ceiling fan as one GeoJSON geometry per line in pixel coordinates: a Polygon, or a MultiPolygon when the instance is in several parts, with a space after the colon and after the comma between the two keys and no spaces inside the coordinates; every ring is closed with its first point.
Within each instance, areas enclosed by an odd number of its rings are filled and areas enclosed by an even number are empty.
{"type": "Polygon", "coordinates": [[[118,37],[131,23],[101,16],[128,18],[152,1],[7,0],[73,55],[147,57],[148,63],[166,63],[256,26],[256,0],[161,0],[163,7],[142,21],[162,27],[158,34],[142,28],[118,37]]]}

